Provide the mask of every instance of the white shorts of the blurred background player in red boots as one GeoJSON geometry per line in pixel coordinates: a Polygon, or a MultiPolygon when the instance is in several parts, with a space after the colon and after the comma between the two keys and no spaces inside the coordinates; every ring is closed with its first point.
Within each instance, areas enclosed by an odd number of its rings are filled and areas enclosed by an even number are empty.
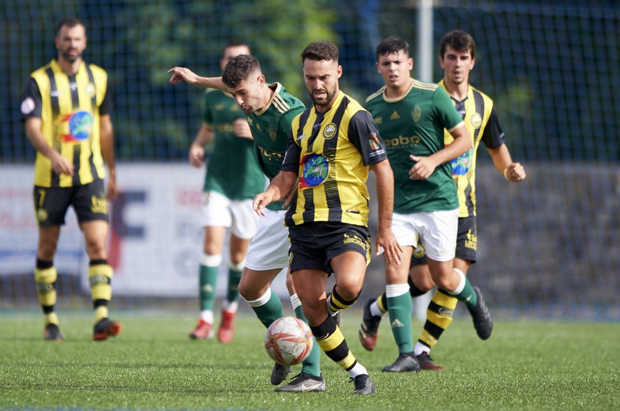
{"type": "Polygon", "coordinates": [[[203,227],[231,228],[231,233],[240,239],[254,236],[259,216],[252,210],[252,198],[230,200],[216,191],[205,192],[202,206],[203,227]]]}

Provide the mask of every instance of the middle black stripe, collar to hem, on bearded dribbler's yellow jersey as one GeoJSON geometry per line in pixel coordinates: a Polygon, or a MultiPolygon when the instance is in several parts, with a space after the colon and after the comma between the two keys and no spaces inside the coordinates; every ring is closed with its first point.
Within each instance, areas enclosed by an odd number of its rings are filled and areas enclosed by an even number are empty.
{"type": "Polygon", "coordinates": [[[336,148],[338,146],[338,131],[340,130],[340,123],[342,117],[347,110],[349,100],[347,97],[342,99],[336,112],[332,123],[336,125],[335,135],[330,139],[325,139],[323,143],[323,155],[329,162],[329,171],[327,179],[323,185],[325,190],[325,202],[327,203],[327,210],[329,212],[329,221],[342,221],[342,203],[340,203],[340,195],[338,193],[338,182],[336,181],[336,148]]]}

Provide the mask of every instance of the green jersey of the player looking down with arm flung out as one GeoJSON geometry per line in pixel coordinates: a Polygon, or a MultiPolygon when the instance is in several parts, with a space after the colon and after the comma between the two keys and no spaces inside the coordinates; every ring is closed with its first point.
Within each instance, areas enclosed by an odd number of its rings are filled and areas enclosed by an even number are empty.
{"type": "MultiPolygon", "coordinates": [[[[254,137],[260,169],[271,180],[280,172],[291,133],[291,122],[306,107],[301,100],[288,94],[280,83],[270,84],[269,87],[273,90],[272,99],[262,110],[248,115],[247,122],[254,137]]],[[[282,210],[282,203],[272,203],[267,208],[282,210]]]]}

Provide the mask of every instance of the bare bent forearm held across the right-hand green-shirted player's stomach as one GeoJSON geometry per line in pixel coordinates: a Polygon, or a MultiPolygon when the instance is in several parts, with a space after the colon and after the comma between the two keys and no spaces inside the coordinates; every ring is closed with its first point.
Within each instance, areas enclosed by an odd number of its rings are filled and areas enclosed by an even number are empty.
{"type": "Polygon", "coordinates": [[[426,180],[433,174],[437,166],[455,159],[471,149],[471,135],[469,135],[466,126],[463,125],[453,130],[450,134],[453,136],[454,141],[440,151],[435,152],[435,154],[428,157],[409,156],[411,161],[415,161],[414,166],[409,170],[410,179],[426,180]]]}

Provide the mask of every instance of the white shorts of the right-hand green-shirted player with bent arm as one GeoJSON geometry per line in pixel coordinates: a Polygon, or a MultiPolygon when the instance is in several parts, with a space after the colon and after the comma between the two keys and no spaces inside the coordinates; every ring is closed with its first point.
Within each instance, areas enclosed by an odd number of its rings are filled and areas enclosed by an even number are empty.
{"type": "Polygon", "coordinates": [[[427,211],[392,215],[392,231],[398,244],[417,247],[422,242],[429,259],[454,259],[459,210],[427,211]]]}

